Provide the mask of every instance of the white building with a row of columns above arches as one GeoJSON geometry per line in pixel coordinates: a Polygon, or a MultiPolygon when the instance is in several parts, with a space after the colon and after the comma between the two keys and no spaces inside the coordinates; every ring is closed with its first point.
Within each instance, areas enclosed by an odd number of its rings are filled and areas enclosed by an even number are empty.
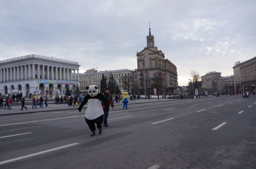
{"type": "Polygon", "coordinates": [[[11,94],[20,90],[23,96],[41,90],[43,96],[52,96],[55,90],[64,94],[75,89],[79,80],[78,62],[27,55],[0,61],[0,92],[11,94]]]}

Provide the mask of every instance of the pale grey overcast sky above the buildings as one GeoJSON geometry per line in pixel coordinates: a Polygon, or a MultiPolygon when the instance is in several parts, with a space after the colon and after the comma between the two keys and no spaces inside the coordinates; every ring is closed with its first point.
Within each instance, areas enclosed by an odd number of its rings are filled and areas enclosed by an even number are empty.
{"type": "Polygon", "coordinates": [[[42,55],[87,69],[137,69],[146,37],[177,67],[233,75],[256,56],[256,0],[0,0],[0,60],[42,55]]]}

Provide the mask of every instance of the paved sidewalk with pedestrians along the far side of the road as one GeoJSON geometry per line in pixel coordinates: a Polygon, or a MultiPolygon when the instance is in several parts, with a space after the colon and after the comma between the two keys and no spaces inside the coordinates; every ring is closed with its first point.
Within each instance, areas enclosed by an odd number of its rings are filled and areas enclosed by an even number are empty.
{"type": "MultiPolygon", "coordinates": [[[[180,100],[180,99],[177,99],[180,100]]],[[[157,98],[152,98],[152,99],[145,99],[142,98],[141,100],[135,100],[135,101],[130,101],[128,102],[129,104],[143,104],[143,103],[149,103],[149,102],[167,102],[167,101],[174,101],[172,99],[162,99],[159,98],[159,100],[157,100],[157,98]]],[[[115,106],[122,106],[122,101],[119,103],[115,103],[114,102],[114,107],[115,106]]],[[[5,106],[5,103],[3,104],[3,106],[5,106]]],[[[34,109],[32,109],[32,102],[25,102],[25,107],[27,107],[27,110],[25,108],[23,108],[23,110],[21,110],[21,105],[19,106],[12,106],[12,109],[9,110],[7,109],[0,109],[0,116],[6,116],[6,115],[12,115],[12,114],[26,114],[26,113],[38,113],[38,112],[51,112],[51,111],[57,111],[57,110],[77,110],[78,106],[68,106],[67,104],[54,104],[54,102],[48,102],[48,106],[45,107],[45,104],[43,105],[43,108],[40,108],[40,106],[36,106],[37,108],[34,107],[34,109]]],[[[83,108],[87,108],[87,104],[84,105],[83,108]]]]}

